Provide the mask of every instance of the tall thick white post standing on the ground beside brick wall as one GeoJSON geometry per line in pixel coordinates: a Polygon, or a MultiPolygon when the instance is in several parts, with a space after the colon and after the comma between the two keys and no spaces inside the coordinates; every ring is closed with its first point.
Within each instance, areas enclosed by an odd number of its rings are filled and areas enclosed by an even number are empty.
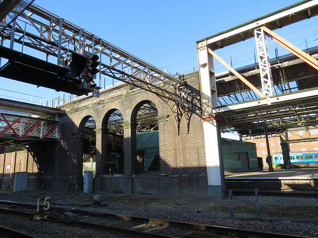
{"type": "Polygon", "coordinates": [[[226,186],[222,158],[221,130],[219,121],[211,117],[212,108],[218,106],[213,56],[208,53],[207,46],[200,48],[200,45],[198,46],[197,54],[200,73],[208,195],[225,198],[226,186]]]}

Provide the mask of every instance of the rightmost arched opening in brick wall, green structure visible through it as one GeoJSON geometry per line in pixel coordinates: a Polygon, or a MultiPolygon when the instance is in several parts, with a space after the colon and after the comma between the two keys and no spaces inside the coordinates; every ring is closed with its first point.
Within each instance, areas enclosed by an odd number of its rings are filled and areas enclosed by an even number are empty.
{"type": "Polygon", "coordinates": [[[160,171],[158,110],[151,101],[138,105],[136,116],[136,174],[160,171]]]}

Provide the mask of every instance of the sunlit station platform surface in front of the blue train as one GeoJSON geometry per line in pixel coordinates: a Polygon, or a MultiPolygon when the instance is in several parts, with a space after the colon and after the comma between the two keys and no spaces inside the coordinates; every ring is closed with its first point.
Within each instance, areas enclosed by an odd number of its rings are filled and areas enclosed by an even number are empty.
{"type": "Polygon", "coordinates": [[[234,178],[262,178],[262,179],[318,179],[318,168],[299,168],[299,169],[274,169],[274,172],[269,172],[268,169],[255,172],[225,172],[226,179],[234,178]]]}

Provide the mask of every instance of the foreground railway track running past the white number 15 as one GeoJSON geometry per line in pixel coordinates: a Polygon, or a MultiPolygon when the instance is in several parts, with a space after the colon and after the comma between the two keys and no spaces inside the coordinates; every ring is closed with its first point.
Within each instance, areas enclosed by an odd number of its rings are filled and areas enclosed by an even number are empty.
{"type": "MultiPolygon", "coordinates": [[[[37,206],[36,204],[17,203],[5,200],[0,200],[0,204],[1,213],[15,214],[14,216],[17,217],[37,217],[41,221],[45,220],[50,222],[49,224],[54,223],[61,224],[63,226],[66,225],[76,226],[80,228],[89,228],[96,231],[108,231],[114,234],[121,234],[121,237],[122,235],[125,235],[129,237],[151,238],[300,238],[300,236],[294,235],[248,231],[242,229],[201,225],[194,223],[89,212],[77,209],[49,207],[46,205],[37,206]]],[[[46,224],[46,226],[49,225],[46,224]]]]}

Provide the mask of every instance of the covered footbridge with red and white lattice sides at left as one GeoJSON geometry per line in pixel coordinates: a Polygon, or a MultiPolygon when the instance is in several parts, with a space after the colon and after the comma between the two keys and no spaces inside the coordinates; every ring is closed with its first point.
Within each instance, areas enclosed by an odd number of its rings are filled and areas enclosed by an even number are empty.
{"type": "Polygon", "coordinates": [[[0,146],[56,141],[62,110],[0,99],[0,146]]]}

